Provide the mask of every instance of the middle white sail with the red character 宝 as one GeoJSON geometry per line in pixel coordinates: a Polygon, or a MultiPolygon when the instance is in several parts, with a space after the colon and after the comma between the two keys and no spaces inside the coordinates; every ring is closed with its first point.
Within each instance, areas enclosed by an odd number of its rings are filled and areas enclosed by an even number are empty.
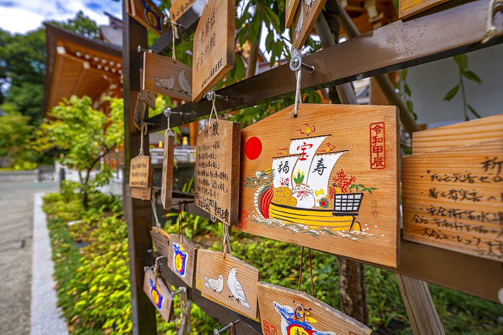
{"type": "MultiPolygon", "coordinates": [[[[297,171],[301,174],[304,172],[304,179],[302,181],[303,184],[307,185],[307,178],[309,176],[309,168],[311,166],[311,162],[314,159],[314,155],[327,136],[319,136],[319,137],[311,137],[293,140],[290,144],[290,154],[299,154],[297,164],[292,171],[292,184],[296,186],[297,183],[293,180],[297,177],[297,171]]],[[[299,183],[301,184],[301,183],[299,183]]]]}

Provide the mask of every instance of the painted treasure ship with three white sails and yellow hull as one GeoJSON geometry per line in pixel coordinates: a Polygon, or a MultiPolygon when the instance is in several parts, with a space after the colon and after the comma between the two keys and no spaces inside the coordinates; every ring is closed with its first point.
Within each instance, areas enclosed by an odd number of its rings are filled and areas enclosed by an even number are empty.
{"type": "Polygon", "coordinates": [[[292,139],[288,152],[285,148],[289,155],[273,157],[270,169],[257,171],[256,178],[248,179],[248,185],[245,182],[245,188],[256,189],[255,207],[264,221],[278,219],[309,229],[361,231],[355,217],[363,193],[342,193],[336,183],[329,187],[334,166],[348,152],[331,151],[329,146],[319,150],[329,136],[292,139]]]}

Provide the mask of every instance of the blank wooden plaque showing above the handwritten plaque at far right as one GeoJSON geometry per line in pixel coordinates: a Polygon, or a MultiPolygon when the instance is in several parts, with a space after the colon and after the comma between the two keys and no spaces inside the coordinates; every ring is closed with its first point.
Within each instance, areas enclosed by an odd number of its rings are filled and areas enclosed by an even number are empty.
{"type": "Polygon", "coordinates": [[[503,138],[503,114],[412,134],[412,153],[449,149],[503,138]]]}

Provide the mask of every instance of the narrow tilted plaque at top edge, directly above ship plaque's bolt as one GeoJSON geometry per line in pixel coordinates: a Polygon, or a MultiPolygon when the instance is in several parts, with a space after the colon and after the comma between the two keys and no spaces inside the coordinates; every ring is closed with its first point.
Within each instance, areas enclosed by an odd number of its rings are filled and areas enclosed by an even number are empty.
{"type": "MultiPolygon", "coordinates": [[[[288,0],[287,0],[288,1],[288,0]]],[[[326,0],[301,0],[292,22],[292,44],[302,49],[326,0]]]]}

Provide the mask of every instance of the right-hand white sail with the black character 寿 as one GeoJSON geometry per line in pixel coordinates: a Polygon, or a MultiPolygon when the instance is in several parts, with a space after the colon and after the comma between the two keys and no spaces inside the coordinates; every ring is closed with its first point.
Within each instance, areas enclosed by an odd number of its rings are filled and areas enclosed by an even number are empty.
{"type": "Polygon", "coordinates": [[[328,196],[328,179],[330,178],[333,166],[336,165],[339,157],[341,157],[345,152],[348,151],[346,150],[314,156],[306,184],[314,191],[316,203],[319,199],[328,196]]]}

